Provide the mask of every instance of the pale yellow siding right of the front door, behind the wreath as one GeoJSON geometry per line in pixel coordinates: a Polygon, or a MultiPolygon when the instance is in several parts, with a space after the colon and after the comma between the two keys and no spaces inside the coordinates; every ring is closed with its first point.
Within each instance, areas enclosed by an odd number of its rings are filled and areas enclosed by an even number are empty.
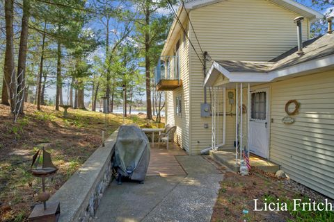
{"type": "Polygon", "coordinates": [[[271,84],[270,159],[297,182],[334,198],[334,71],[271,84]],[[291,125],[285,103],[296,99],[291,125]]]}

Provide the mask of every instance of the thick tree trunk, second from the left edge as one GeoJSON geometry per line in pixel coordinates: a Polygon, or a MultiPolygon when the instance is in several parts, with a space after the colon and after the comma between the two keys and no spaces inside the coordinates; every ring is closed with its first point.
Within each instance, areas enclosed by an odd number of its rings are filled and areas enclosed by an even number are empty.
{"type": "Polygon", "coordinates": [[[28,34],[29,34],[29,17],[30,2],[23,0],[23,14],[21,23],[21,36],[19,38],[19,58],[17,61],[17,99],[21,102],[17,103],[17,111],[23,113],[24,110],[24,88],[26,82],[26,51],[28,50],[28,34]]]}

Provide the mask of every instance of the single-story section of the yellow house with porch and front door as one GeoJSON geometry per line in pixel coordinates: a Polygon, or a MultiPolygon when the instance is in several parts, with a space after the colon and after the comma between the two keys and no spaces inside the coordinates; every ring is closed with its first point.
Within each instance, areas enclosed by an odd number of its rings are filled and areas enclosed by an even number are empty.
{"type": "MultiPolygon", "coordinates": [[[[226,110],[224,107],[229,105],[228,99],[217,99],[217,92],[226,95],[232,90],[237,95],[234,110],[237,121],[232,129],[234,141],[239,144],[235,150],[236,166],[243,159],[240,156],[243,151],[250,151],[279,164],[297,182],[334,198],[334,34],[331,31],[269,62],[214,61],[204,85],[214,92],[213,132],[224,125],[217,121],[216,110],[226,110]]],[[[230,118],[229,114],[223,114],[224,117],[230,118]]],[[[229,130],[226,128],[225,132],[229,130]]],[[[221,133],[224,137],[224,131],[221,133]]],[[[231,156],[232,153],[219,147],[221,143],[213,137],[216,150],[213,155],[231,156]]]]}

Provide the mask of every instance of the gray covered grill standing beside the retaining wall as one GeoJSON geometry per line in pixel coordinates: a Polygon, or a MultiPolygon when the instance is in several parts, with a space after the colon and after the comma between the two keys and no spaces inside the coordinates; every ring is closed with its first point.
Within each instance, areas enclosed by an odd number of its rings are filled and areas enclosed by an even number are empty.
{"type": "Polygon", "coordinates": [[[143,130],[134,125],[120,126],[115,146],[114,166],[118,173],[143,181],[150,163],[150,142],[143,130]]]}

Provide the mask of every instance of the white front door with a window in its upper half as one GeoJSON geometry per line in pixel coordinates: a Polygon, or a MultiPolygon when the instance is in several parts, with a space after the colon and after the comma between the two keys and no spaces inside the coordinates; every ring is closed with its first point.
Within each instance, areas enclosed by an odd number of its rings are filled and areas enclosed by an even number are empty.
{"type": "Polygon", "coordinates": [[[269,89],[257,89],[250,94],[250,152],[269,157],[269,89]]]}

